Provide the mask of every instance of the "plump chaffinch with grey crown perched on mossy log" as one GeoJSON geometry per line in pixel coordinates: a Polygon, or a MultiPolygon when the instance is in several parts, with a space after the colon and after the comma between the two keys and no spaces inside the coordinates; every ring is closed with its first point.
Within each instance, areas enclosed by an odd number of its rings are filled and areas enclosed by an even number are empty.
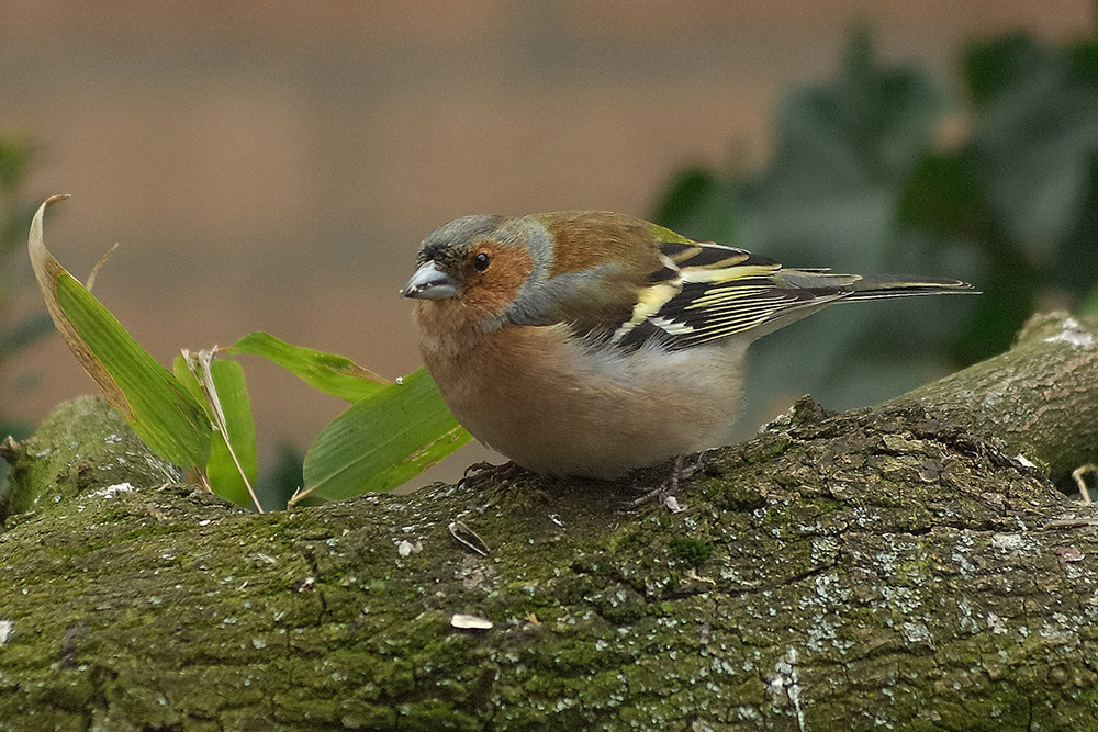
{"type": "Polygon", "coordinates": [[[458,420],[518,465],[613,477],[727,444],[754,339],[837,302],[956,280],[783,268],[621,214],[466,216],[403,290],[458,420]]]}

